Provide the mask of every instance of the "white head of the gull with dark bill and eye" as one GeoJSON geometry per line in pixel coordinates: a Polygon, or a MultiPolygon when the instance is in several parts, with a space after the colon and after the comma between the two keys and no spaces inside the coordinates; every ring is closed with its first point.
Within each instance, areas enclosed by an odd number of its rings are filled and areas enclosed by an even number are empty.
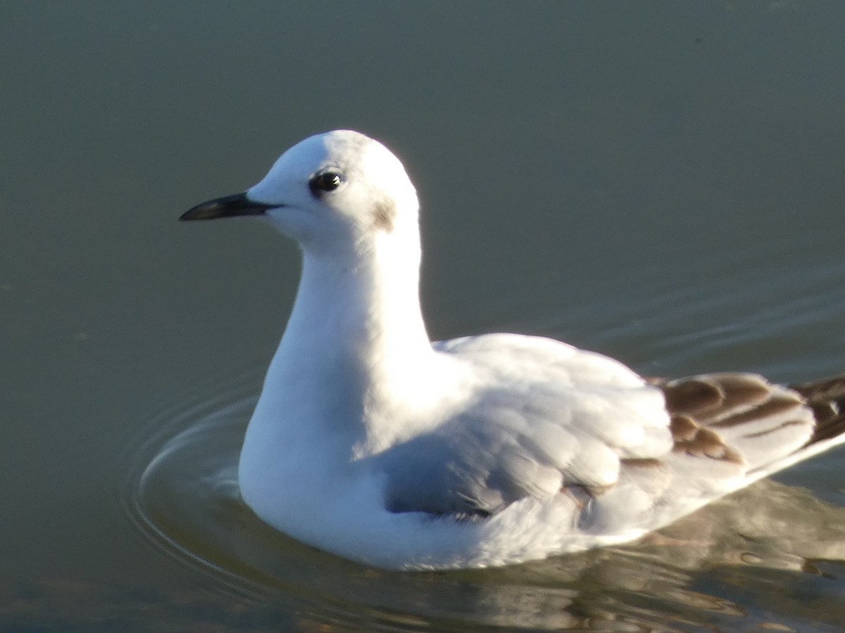
{"type": "Polygon", "coordinates": [[[281,154],[246,192],[210,200],[181,219],[260,215],[303,248],[361,244],[417,225],[417,194],[401,162],[351,130],[317,134],[281,154]]]}

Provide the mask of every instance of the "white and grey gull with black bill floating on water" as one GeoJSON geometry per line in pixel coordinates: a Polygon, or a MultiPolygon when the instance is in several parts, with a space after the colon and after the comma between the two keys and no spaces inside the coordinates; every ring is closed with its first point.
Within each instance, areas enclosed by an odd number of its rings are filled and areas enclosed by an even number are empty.
{"type": "Polygon", "coordinates": [[[510,565],[619,544],[845,441],[845,376],[674,380],[551,338],[431,342],[417,193],[384,145],[306,138],[246,192],[302,277],[238,463],[292,538],[399,570],[510,565]]]}

